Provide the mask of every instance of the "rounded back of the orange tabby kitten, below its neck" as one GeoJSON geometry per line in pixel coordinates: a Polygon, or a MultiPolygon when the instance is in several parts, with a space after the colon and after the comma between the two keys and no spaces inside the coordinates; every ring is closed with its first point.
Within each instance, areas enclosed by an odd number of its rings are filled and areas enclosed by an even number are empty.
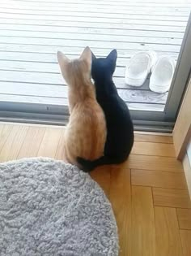
{"type": "Polygon", "coordinates": [[[104,154],[106,125],[97,102],[85,101],[77,106],[66,129],[67,155],[70,163],[80,156],[96,159],[104,154]]]}

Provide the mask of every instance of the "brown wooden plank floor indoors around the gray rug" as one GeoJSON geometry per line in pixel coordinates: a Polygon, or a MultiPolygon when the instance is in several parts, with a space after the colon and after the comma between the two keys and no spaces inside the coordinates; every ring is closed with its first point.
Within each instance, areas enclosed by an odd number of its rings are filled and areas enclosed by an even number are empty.
{"type": "MultiPolygon", "coordinates": [[[[45,156],[62,159],[64,128],[0,124],[0,161],[45,156]]],[[[190,256],[191,203],[172,137],[135,134],[121,166],[91,173],[117,219],[120,256],[190,256]]]]}

